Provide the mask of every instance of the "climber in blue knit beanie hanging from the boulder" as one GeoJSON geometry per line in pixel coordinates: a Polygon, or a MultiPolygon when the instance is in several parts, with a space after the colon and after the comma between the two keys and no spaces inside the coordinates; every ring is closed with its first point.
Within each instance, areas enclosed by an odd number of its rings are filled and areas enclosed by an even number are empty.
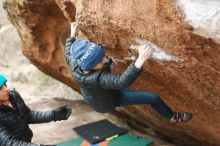
{"type": "Polygon", "coordinates": [[[112,73],[112,60],[106,59],[103,49],[87,40],[76,39],[78,24],[71,23],[71,36],[66,40],[65,59],[71,68],[72,77],[80,85],[81,94],[95,111],[111,112],[115,107],[149,104],[170,122],[191,120],[190,112],[173,112],[153,92],[133,91],[127,88],[143,70],[144,62],[151,56],[152,48],[138,49],[137,60],[121,73],[112,73]]]}

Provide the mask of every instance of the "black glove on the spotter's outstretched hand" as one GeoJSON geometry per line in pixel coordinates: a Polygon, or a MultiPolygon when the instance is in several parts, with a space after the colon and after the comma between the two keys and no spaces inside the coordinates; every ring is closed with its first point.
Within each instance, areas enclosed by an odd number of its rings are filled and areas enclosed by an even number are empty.
{"type": "Polygon", "coordinates": [[[54,121],[57,120],[67,120],[72,113],[70,108],[67,108],[67,105],[61,106],[53,111],[54,121]]]}

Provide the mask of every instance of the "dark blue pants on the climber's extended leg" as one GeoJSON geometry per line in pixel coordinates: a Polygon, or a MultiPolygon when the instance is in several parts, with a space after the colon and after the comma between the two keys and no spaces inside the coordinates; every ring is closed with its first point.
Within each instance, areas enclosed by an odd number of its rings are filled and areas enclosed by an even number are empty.
{"type": "Polygon", "coordinates": [[[154,110],[170,119],[173,111],[162,101],[159,95],[152,92],[122,90],[119,94],[119,106],[150,104],[154,110]]]}

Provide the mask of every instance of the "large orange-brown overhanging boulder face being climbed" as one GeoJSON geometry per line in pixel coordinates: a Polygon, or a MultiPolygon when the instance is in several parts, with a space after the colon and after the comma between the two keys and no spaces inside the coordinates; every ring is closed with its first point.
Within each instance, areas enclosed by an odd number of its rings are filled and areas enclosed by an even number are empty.
{"type": "MultiPolygon", "coordinates": [[[[64,60],[70,21],[78,21],[80,38],[103,46],[121,72],[133,55],[137,37],[157,44],[182,62],[153,59],[131,87],[153,91],[175,111],[191,111],[187,124],[170,124],[148,106],[120,111],[147,122],[185,145],[220,145],[220,45],[195,35],[173,0],[4,0],[17,28],[23,53],[40,70],[79,91],[64,60]]],[[[12,39],[13,41],[13,39],[12,39]]]]}

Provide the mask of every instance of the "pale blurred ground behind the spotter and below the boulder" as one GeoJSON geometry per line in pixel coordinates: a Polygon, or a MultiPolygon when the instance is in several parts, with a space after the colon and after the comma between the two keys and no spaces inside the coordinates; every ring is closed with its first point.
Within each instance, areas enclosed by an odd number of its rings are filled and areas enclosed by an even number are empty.
{"type": "MultiPolygon", "coordinates": [[[[72,130],[73,127],[100,119],[109,119],[130,130],[127,123],[115,115],[93,111],[78,93],[40,72],[23,56],[19,35],[6,19],[2,1],[0,18],[0,73],[8,78],[9,87],[16,88],[33,110],[50,110],[61,105],[72,108],[72,115],[67,121],[30,125],[34,132],[33,143],[55,144],[76,138],[78,135],[72,130]]],[[[152,131],[150,135],[143,135],[135,130],[131,130],[131,133],[149,138],[157,146],[172,146],[153,136],[155,133],[152,131]]]]}

